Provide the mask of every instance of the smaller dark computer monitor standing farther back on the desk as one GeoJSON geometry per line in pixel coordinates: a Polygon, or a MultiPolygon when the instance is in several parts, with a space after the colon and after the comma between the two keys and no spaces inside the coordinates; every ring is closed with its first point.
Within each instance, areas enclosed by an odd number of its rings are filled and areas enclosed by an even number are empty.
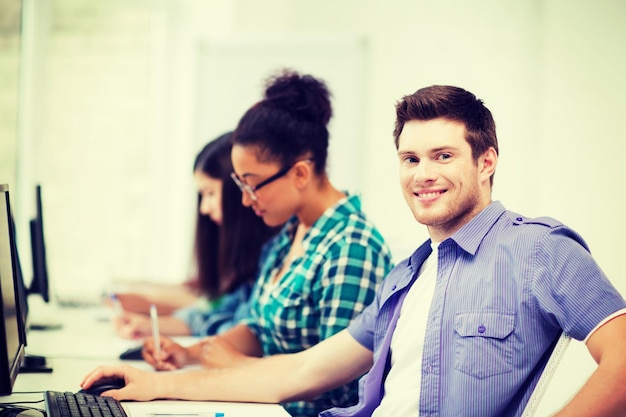
{"type": "Polygon", "coordinates": [[[41,185],[35,187],[35,217],[30,220],[30,244],[33,261],[33,279],[28,294],[38,294],[47,303],[50,301],[46,240],[43,229],[41,185]]]}

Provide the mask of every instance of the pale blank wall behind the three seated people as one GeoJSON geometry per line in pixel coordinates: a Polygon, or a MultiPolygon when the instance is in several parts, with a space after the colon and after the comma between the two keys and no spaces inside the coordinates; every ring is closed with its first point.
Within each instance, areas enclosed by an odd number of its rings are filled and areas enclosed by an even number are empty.
{"type": "MultiPolygon", "coordinates": [[[[34,153],[24,160],[39,164],[21,172],[30,177],[24,188],[44,183],[49,263],[60,296],[97,296],[114,276],[184,277],[191,163],[208,139],[196,119],[201,42],[316,36],[364,42],[362,117],[350,138],[358,146],[339,159],[359,159],[354,187],[397,259],[426,234],[397,185],[394,103],[422,86],[457,84],[496,118],[494,198],[573,226],[626,293],[625,2],[52,3],[37,16],[49,33],[31,65],[45,71],[30,74],[39,100],[26,123],[37,129],[24,138],[34,153]],[[77,290],[77,282],[88,290],[77,290]]],[[[28,198],[20,201],[28,213],[28,198]]],[[[593,369],[584,347],[572,352],[563,369],[593,369]]],[[[556,381],[563,389],[546,410],[579,383],[566,374],[556,381]]]]}

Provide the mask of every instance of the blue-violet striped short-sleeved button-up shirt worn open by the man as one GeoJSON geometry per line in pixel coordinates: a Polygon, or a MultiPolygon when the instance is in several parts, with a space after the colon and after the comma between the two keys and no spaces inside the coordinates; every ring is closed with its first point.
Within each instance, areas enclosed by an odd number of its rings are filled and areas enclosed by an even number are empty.
{"type": "MultiPolygon", "coordinates": [[[[349,326],[374,352],[374,366],[361,381],[359,404],[321,416],[369,416],[380,403],[390,335],[430,252],[426,242],[394,268],[349,326]]],[[[578,234],[499,202],[441,242],[438,252],[421,358],[421,417],[521,415],[560,333],[583,340],[626,308],[578,234]]]]}

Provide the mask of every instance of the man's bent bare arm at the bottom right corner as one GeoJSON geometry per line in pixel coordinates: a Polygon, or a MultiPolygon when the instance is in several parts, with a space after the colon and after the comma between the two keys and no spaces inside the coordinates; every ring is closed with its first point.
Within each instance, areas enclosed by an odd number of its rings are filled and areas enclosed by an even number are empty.
{"type": "Polygon", "coordinates": [[[598,368],[556,416],[626,416],[626,314],[598,328],[587,349],[598,368]]]}

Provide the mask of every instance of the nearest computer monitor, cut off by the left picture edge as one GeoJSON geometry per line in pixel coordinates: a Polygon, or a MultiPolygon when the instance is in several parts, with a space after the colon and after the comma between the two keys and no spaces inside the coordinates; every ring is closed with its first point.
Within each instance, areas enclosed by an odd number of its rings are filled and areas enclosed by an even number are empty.
{"type": "Polygon", "coordinates": [[[26,336],[16,281],[9,187],[0,184],[0,395],[9,395],[24,361],[26,336]]]}

